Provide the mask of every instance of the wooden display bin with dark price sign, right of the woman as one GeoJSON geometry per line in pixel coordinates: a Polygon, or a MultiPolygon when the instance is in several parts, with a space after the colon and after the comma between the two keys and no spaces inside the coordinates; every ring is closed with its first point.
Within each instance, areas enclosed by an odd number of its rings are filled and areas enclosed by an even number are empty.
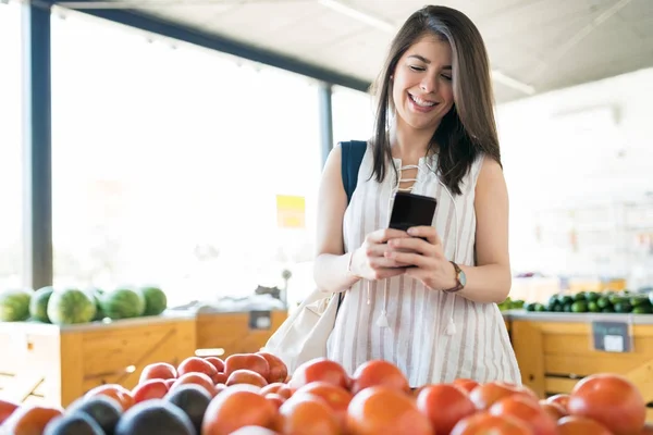
{"type": "Polygon", "coordinates": [[[510,336],[525,385],[544,398],[595,373],[626,376],[653,421],[653,314],[512,312],[510,336]]]}

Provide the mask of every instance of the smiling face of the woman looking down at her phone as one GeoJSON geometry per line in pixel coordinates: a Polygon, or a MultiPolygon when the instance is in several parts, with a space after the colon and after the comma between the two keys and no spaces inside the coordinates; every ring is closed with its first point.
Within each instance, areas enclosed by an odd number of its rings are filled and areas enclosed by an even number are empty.
{"type": "Polygon", "coordinates": [[[454,105],[449,44],[434,36],[418,39],[397,62],[392,80],[397,123],[435,130],[454,105]]]}

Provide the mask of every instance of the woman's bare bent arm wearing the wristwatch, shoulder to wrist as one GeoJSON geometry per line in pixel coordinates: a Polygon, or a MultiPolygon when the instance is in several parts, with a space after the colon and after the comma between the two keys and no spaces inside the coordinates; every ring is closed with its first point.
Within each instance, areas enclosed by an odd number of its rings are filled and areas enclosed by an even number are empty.
{"type": "MultiPolygon", "coordinates": [[[[458,294],[476,302],[498,303],[508,296],[513,283],[508,253],[508,191],[501,165],[491,158],[484,159],[475,199],[477,265],[460,265],[467,285],[458,294]]],[[[455,276],[453,265],[451,276],[455,276]]],[[[455,284],[454,279],[452,284],[455,284]]]]}

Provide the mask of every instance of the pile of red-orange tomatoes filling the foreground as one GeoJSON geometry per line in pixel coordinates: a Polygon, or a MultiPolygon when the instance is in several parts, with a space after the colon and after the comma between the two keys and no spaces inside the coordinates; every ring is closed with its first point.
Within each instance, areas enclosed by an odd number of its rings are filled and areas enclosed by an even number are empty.
{"type": "MultiPolygon", "coordinates": [[[[164,433],[175,435],[653,435],[637,386],[614,374],[584,377],[569,395],[541,399],[503,382],[456,380],[415,389],[381,360],[349,376],[337,362],[317,359],[291,376],[279,358],[257,352],[150,364],[134,389],[102,385],[81,400],[98,396],[120,409],[107,435],[159,433],[155,425],[162,421],[172,422],[164,433]],[[163,414],[153,419],[155,411],[163,414]]],[[[66,413],[3,403],[0,428],[14,435],[47,433],[66,413]]]]}

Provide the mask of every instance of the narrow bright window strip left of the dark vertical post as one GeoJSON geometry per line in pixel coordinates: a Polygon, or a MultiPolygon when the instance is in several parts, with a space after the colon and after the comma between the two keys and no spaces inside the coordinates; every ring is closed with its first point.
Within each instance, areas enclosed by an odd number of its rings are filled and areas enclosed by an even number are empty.
{"type": "Polygon", "coordinates": [[[0,2],[0,290],[22,285],[21,3],[0,2]]]}

